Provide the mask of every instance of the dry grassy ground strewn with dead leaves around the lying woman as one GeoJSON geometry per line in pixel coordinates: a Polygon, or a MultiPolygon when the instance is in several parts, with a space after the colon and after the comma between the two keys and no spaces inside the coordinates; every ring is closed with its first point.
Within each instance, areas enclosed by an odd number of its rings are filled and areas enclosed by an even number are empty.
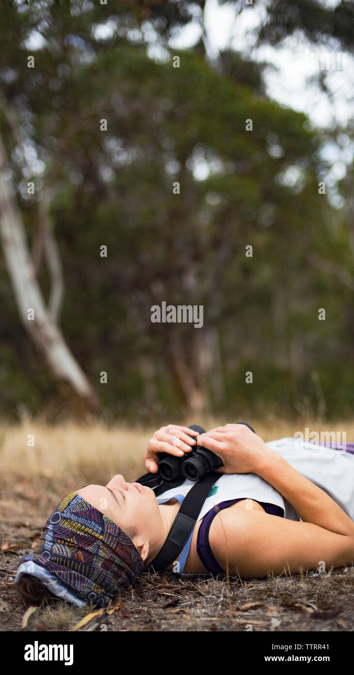
{"type": "MultiPolygon", "coordinates": [[[[204,421],[206,428],[212,424],[204,421]]],[[[354,425],[345,423],[269,422],[257,431],[270,440],[305,426],[318,433],[347,431],[347,440],[354,439],[354,425]]],[[[87,608],[59,601],[38,608],[22,628],[26,608],[13,587],[18,560],[36,545],[65,494],[90,482],[105,484],[117,472],[128,481],[141,475],[152,431],[99,423],[50,427],[30,420],[0,425],[0,630],[71,630],[88,616],[87,608]],[[32,438],[34,445],[28,445],[32,438]]],[[[266,580],[144,573],[139,589],[77,630],[345,631],[353,630],[353,618],[353,567],[266,580]]]]}

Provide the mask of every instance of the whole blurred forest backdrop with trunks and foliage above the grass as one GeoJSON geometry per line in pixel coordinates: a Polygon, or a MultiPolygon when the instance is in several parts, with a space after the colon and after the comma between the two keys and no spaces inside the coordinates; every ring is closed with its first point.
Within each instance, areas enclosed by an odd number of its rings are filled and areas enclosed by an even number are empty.
{"type": "MultiPolygon", "coordinates": [[[[314,128],[270,100],[266,63],[211,58],[203,30],[171,47],[205,4],[0,3],[5,418],[351,416],[353,168],[326,184],[323,148],[351,145],[353,124],[314,128]],[[151,323],[163,300],[202,304],[203,328],[151,323]]],[[[352,52],[353,3],[262,4],[258,45],[301,33],[352,52]]]]}

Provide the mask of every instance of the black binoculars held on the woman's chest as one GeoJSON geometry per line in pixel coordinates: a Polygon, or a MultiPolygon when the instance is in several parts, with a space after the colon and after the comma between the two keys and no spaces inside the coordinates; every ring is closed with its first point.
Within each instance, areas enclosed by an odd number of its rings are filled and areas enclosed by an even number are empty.
{"type": "MultiPolygon", "coordinates": [[[[255,433],[254,429],[246,422],[237,422],[237,424],[244,424],[255,433]]],[[[198,431],[198,433],[205,433],[205,429],[198,427],[198,425],[191,425],[189,429],[198,431]]],[[[170,482],[175,481],[182,475],[189,481],[195,482],[205,476],[210,469],[223,465],[223,461],[214,452],[203,448],[202,445],[198,445],[198,437],[196,441],[197,445],[183,457],[175,457],[175,455],[170,455],[167,452],[161,453],[160,461],[158,462],[158,475],[160,479],[170,482]]]]}

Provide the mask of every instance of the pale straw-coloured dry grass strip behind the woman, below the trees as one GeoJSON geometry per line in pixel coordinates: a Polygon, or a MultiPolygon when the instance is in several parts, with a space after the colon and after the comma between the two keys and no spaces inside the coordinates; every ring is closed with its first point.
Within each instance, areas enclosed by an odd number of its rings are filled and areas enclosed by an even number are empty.
{"type": "MultiPolygon", "coordinates": [[[[187,421],[186,424],[190,422],[187,421]]],[[[202,420],[210,429],[224,421],[202,420]]],[[[255,423],[257,433],[265,441],[293,436],[295,431],[347,432],[354,439],[354,423],[314,423],[311,421],[263,421],[255,423]]],[[[0,472],[9,477],[43,478],[61,481],[93,480],[96,483],[122,473],[127,480],[145,472],[142,462],[146,443],[155,428],[134,429],[107,427],[94,422],[86,425],[67,422],[51,426],[25,418],[20,425],[0,423],[0,472]],[[34,445],[28,445],[33,437],[34,445]]],[[[80,487],[80,486],[79,486],[80,487]]]]}

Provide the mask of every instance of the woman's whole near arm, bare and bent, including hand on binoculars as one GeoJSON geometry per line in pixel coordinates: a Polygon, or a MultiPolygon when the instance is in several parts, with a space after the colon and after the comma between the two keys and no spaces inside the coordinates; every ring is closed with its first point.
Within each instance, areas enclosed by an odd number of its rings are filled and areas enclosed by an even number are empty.
{"type": "Polygon", "coordinates": [[[210,544],[231,574],[264,576],[349,564],[354,559],[354,522],[331,497],[268,448],[247,427],[227,425],[200,437],[225,462],[227,473],[254,472],[290,502],[304,522],[256,510],[225,510],[210,527],[210,544]],[[236,566],[236,567],[235,567],[236,566]]]}

